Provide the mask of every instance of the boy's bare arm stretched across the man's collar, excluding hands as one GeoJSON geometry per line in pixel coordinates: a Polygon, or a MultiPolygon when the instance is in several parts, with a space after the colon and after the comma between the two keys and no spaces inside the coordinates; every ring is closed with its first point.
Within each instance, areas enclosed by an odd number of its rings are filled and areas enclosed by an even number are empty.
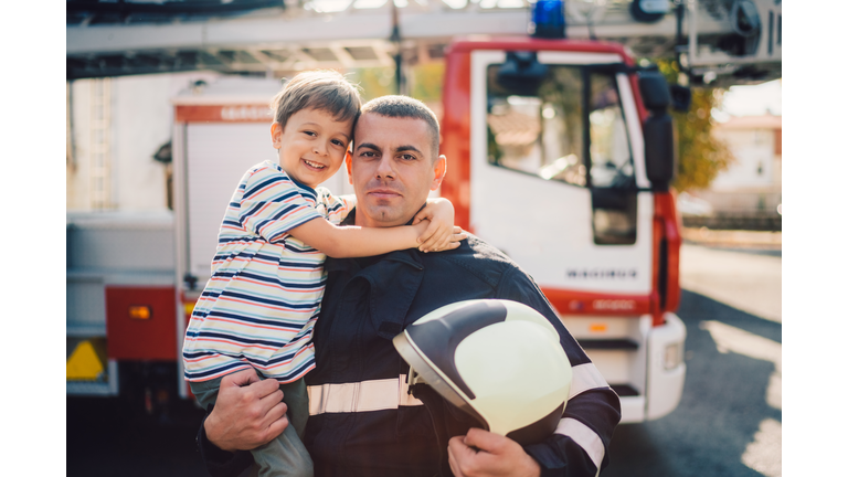
{"type": "MultiPolygon", "coordinates": [[[[312,220],[288,231],[289,235],[333,258],[382,255],[418,246],[417,237],[427,222],[396,227],[336,226],[312,220]]],[[[459,244],[457,243],[456,246],[459,244]]],[[[455,247],[454,247],[455,248],[455,247]]]]}

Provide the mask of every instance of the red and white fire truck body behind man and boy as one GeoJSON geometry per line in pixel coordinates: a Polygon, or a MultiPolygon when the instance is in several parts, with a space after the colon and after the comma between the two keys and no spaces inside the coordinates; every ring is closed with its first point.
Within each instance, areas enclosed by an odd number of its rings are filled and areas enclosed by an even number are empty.
{"type": "MultiPolygon", "coordinates": [[[[534,277],[621,396],[622,422],[655,420],[686,375],[669,187],[680,89],[619,44],[543,36],[449,45],[437,193],[534,277]]],[[[278,89],[221,77],[173,98],[172,214],[68,214],[68,395],[144,395],[148,411],[191,399],[182,337],[233,188],[272,158],[278,89]]],[[[326,186],[352,192],[344,168],[326,186]]]]}

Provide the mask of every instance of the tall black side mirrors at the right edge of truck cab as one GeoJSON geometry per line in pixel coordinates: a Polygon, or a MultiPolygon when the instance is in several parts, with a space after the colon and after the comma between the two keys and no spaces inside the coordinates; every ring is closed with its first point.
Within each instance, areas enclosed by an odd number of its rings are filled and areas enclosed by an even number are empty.
{"type": "MultiPolygon", "coordinates": [[[[639,73],[639,92],[645,107],[650,112],[643,125],[645,169],[654,189],[668,190],[677,174],[675,120],[667,110],[675,103],[672,89],[658,71],[644,71],[639,73]]],[[[689,98],[691,99],[691,96],[689,98]]]]}

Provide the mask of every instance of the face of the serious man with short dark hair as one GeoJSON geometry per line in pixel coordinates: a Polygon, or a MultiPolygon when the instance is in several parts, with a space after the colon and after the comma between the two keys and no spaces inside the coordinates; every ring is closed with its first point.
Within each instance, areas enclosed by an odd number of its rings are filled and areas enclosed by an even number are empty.
{"type": "Polygon", "coordinates": [[[433,161],[430,127],[422,119],[365,113],[354,138],[348,173],[357,193],[357,224],[405,224],[445,176],[445,157],[433,161]]]}

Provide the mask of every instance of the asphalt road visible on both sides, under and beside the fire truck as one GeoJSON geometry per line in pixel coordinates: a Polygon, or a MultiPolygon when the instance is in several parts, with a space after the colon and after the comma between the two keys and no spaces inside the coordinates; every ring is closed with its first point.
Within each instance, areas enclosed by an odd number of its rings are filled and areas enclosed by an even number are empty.
{"type": "MultiPolygon", "coordinates": [[[[604,477],[781,476],[781,256],[683,245],[678,315],[688,367],[679,407],[622,425],[604,477]]],[[[188,404],[188,403],[187,403],[188,404]]],[[[67,399],[68,476],[204,476],[202,413],[166,423],[113,400],[67,399]]]]}

